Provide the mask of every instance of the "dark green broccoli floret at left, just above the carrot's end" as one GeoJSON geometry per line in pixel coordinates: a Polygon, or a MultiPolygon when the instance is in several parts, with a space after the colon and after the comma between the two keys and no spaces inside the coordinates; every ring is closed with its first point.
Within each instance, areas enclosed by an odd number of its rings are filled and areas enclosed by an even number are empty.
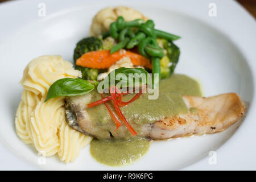
{"type": "Polygon", "coordinates": [[[103,43],[101,39],[96,38],[94,36],[80,40],[76,44],[76,48],[74,51],[75,64],[76,64],[76,60],[79,59],[79,57],[81,57],[84,53],[89,51],[97,51],[102,49],[102,47],[103,47],[103,43]]]}

